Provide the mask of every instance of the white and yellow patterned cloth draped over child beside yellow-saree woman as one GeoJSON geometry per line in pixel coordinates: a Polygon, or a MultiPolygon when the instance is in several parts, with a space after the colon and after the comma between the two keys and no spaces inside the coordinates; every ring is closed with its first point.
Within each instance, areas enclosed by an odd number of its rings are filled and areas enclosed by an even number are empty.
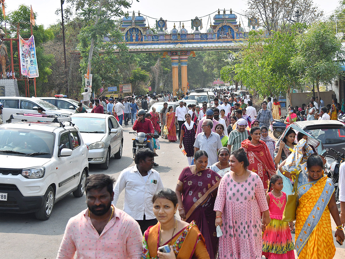
{"type": "Polygon", "coordinates": [[[297,145],[294,146],[293,152],[287,157],[284,166],[282,167],[283,172],[297,173],[299,170],[307,172],[307,159],[314,153],[313,149],[307,144],[307,140],[302,138],[298,141],[297,145]],[[305,155],[302,153],[302,149],[306,150],[305,155]]]}

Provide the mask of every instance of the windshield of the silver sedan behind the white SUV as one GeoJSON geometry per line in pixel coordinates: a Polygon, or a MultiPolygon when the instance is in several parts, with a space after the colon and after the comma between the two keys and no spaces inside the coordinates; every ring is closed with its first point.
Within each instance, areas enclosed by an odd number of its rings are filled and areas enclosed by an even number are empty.
{"type": "Polygon", "coordinates": [[[72,123],[76,124],[80,132],[105,133],[106,121],[104,118],[71,117],[72,123]]]}

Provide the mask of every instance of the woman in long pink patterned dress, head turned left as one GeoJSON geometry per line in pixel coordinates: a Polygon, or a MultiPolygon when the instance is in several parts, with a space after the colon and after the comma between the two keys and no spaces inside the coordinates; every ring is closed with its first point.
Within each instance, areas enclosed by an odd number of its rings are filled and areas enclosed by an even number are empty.
{"type": "Polygon", "coordinates": [[[243,148],[230,155],[230,172],[220,179],[214,210],[221,226],[219,258],[258,259],[262,255],[262,225],[270,222],[266,193],[259,176],[247,169],[243,148]],[[260,212],[263,212],[261,222],[260,212]]]}

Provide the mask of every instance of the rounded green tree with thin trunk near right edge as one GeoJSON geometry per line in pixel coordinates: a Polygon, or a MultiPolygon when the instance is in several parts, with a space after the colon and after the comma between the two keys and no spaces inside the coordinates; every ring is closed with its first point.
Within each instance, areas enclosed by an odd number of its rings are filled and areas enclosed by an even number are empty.
{"type": "Polygon", "coordinates": [[[320,100],[319,83],[329,83],[340,71],[339,63],[344,52],[341,42],[328,23],[315,22],[294,40],[297,53],[291,67],[299,71],[302,83],[315,82],[320,100]]]}

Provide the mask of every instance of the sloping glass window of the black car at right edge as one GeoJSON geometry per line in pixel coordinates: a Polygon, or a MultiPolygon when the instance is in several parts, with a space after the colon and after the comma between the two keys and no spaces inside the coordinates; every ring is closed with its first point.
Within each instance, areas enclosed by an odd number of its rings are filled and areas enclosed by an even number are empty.
{"type": "Polygon", "coordinates": [[[317,138],[322,144],[345,143],[345,128],[321,128],[315,130],[304,130],[313,137],[317,138]]]}

